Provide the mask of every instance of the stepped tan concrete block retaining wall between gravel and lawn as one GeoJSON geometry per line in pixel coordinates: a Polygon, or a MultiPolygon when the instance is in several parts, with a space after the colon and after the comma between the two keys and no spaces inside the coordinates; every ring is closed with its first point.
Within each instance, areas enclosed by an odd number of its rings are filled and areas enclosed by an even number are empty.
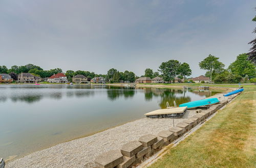
{"type": "Polygon", "coordinates": [[[100,154],[95,159],[96,167],[126,168],[139,165],[142,161],[160,151],[164,146],[173,143],[178,137],[203,122],[237,95],[239,94],[231,95],[227,100],[212,105],[206,110],[199,110],[195,116],[178,123],[176,127],[172,127],[169,130],[162,130],[157,135],[143,135],[138,141],[124,144],[120,150],[111,150],[100,154]]]}

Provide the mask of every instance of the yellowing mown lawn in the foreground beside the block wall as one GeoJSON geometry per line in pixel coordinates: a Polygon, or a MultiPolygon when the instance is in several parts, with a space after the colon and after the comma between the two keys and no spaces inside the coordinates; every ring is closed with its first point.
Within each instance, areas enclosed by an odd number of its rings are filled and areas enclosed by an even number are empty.
{"type": "Polygon", "coordinates": [[[150,167],[256,167],[256,86],[150,167]]]}

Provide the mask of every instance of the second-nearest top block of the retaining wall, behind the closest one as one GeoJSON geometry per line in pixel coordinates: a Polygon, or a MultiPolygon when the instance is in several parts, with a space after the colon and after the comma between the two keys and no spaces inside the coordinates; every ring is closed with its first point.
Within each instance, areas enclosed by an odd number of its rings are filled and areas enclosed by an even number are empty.
{"type": "Polygon", "coordinates": [[[122,146],[121,153],[123,154],[123,156],[132,157],[142,149],[143,146],[140,142],[132,141],[122,146]]]}

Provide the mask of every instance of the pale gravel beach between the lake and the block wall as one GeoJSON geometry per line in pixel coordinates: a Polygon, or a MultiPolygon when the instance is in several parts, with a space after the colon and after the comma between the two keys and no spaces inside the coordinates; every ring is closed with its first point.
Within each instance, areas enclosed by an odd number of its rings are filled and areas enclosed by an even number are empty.
{"type": "MultiPolygon", "coordinates": [[[[195,110],[187,110],[182,119],[174,120],[175,125],[195,113],[195,110]]],[[[143,118],[34,152],[8,162],[6,167],[94,167],[94,158],[100,153],[120,149],[123,144],[138,140],[143,134],[157,134],[160,130],[168,130],[172,126],[173,119],[143,118]]]]}

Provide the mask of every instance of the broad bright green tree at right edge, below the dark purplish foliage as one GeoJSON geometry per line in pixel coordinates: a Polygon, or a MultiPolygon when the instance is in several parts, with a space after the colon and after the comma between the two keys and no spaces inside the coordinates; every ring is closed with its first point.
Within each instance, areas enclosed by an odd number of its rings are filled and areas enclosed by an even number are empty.
{"type": "Polygon", "coordinates": [[[256,76],[255,66],[248,60],[248,55],[246,53],[239,54],[237,60],[231,63],[228,67],[232,74],[240,75],[249,78],[256,76]]]}

